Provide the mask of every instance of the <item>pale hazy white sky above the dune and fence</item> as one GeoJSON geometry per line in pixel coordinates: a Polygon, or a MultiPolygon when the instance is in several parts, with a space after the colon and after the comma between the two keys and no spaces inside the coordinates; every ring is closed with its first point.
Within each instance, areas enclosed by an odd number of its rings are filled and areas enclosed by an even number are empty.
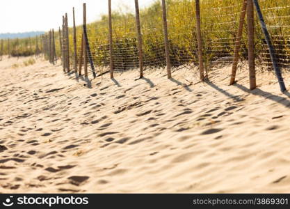
{"type": "MultiPolygon", "coordinates": [[[[134,11],[134,0],[111,1],[113,10],[129,8],[134,11]]],[[[156,0],[139,0],[140,8],[153,1],[156,0]]],[[[107,0],[0,0],[0,33],[58,29],[64,13],[72,26],[72,7],[76,12],[76,24],[81,24],[83,3],[87,4],[87,22],[108,13],[107,0]]]]}

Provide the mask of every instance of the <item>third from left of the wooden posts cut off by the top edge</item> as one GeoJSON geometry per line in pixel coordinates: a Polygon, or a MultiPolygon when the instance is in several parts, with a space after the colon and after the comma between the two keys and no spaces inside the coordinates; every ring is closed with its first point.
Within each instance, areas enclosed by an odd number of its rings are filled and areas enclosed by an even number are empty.
{"type": "Polygon", "coordinates": [[[166,68],[167,68],[167,77],[170,79],[171,76],[171,62],[169,56],[169,41],[168,41],[168,29],[167,29],[167,17],[166,17],[166,3],[165,0],[162,0],[162,17],[163,17],[163,31],[164,31],[164,45],[165,45],[165,54],[166,54],[166,68]]]}

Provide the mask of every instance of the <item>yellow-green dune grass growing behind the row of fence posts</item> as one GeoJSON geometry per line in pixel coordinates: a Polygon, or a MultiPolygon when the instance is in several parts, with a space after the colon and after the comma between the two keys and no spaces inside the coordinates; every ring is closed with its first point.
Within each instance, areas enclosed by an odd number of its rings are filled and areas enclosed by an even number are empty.
{"type": "MultiPolygon", "coordinates": [[[[151,6],[140,10],[140,21],[143,33],[143,51],[146,67],[162,67],[166,64],[163,46],[163,22],[161,1],[155,1],[151,6]]],[[[280,62],[290,63],[290,0],[263,0],[259,1],[268,25],[273,43],[280,62]],[[288,25],[288,26],[287,26],[288,25]],[[277,26],[277,27],[274,27],[277,26]],[[282,27],[279,27],[282,26],[282,27]]],[[[170,40],[170,59],[173,66],[186,63],[198,64],[197,38],[195,27],[194,0],[167,0],[168,35],[170,40]]],[[[209,68],[214,61],[225,56],[233,56],[236,31],[239,26],[242,0],[200,0],[202,21],[202,39],[204,61],[209,68]]],[[[70,8],[67,8],[67,10],[70,8]]],[[[70,18],[70,17],[69,17],[70,18]]],[[[108,53],[108,16],[88,24],[88,39],[92,58],[97,69],[107,67],[108,53]]],[[[82,26],[77,26],[78,57],[81,48],[82,26]]],[[[56,53],[61,56],[58,31],[55,32],[56,53]]],[[[113,13],[113,50],[115,68],[125,70],[138,67],[138,48],[136,40],[135,15],[130,13],[113,13]]],[[[73,36],[70,28],[70,61],[73,61],[73,36]]],[[[40,42],[40,38],[38,38],[40,42]]],[[[19,49],[15,51],[15,40],[12,41],[13,56],[28,56],[36,51],[35,38],[19,40],[19,49]]],[[[4,43],[6,48],[7,42],[4,43]]],[[[40,44],[40,50],[42,44],[40,44]]],[[[4,52],[6,52],[4,50],[4,52]]],[[[269,61],[267,47],[264,44],[264,35],[259,20],[255,18],[255,52],[257,61],[269,61]]],[[[4,53],[5,54],[5,53],[4,53]]],[[[241,59],[248,57],[247,26],[245,24],[241,59]]]]}

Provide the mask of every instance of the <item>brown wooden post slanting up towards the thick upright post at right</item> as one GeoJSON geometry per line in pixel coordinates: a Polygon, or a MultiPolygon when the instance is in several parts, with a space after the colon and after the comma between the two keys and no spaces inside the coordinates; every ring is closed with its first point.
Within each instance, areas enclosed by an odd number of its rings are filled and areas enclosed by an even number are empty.
{"type": "Polygon", "coordinates": [[[239,52],[241,49],[241,38],[243,35],[243,24],[245,22],[246,10],[247,10],[247,0],[243,0],[243,7],[241,10],[240,22],[239,22],[239,30],[238,30],[238,33],[236,34],[236,41],[235,41],[235,48],[234,48],[234,59],[233,59],[233,63],[232,63],[232,76],[231,76],[231,80],[229,82],[229,85],[234,84],[235,79],[236,79],[236,69],[238,68],[239,52]]]}

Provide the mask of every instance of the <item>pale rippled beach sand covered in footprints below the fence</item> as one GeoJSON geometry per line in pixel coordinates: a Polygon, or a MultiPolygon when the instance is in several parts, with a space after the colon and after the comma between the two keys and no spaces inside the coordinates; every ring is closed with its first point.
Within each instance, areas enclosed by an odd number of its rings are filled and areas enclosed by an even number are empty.
{"type": "Polygon", "coordinates": [[[211,84],[131,70],[88,88],[24,60],[0,62],[3,193],[290,192],[290,99],[270,76],[248,91],[247,72],[221,79],[228,67],[211,84]]]}

